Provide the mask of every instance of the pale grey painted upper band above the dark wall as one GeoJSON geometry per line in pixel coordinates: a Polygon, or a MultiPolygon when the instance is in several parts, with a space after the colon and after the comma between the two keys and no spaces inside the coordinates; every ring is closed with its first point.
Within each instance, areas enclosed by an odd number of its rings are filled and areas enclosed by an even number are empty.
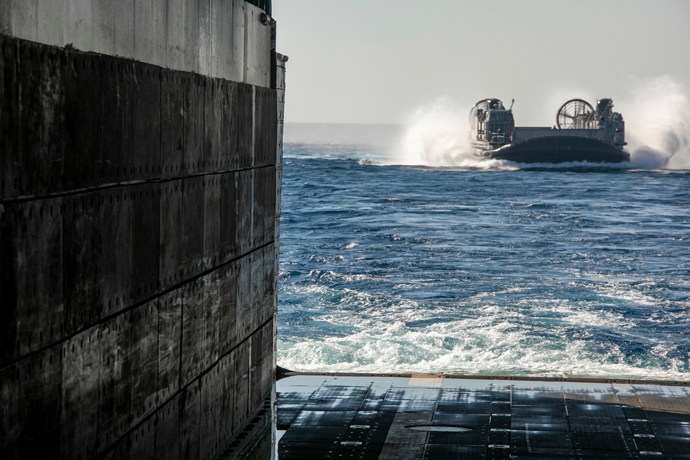
{"type": "Polygon", "coordinates": [[[266,0],[3,0],[0,34],[268,87],[266,0]]]}

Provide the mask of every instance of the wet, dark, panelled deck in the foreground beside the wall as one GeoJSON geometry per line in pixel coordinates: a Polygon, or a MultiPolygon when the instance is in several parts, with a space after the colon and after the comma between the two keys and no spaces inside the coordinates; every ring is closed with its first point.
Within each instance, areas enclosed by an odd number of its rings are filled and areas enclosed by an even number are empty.
{"type": "Polygon", "coordinates": [[[690,460],[690,387],[300,375],[277,429],[279,460],[690,460]]]}

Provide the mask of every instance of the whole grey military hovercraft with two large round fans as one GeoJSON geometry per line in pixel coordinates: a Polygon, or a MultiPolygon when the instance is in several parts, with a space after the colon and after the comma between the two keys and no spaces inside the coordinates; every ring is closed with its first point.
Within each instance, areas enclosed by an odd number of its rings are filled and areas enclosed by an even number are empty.
{"type": "Polygon", "coordinates": [[[611,99],[599,99],[596,110],[587,101],[571,99],[556,114],[556,126],[515,126],[513,106],[482,99],[470,111],[471,141],[477,156],[517,163],[620,163],[630,161],[624,150],[625,123],[613,112],[611,99]]]}

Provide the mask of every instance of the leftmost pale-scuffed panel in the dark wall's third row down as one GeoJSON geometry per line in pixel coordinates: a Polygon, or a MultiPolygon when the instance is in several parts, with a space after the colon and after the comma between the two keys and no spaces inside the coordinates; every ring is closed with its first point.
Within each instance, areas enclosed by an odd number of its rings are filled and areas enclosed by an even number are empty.
{"type": "Polygon", "coordinates": [[[94,457],[98,446],[100,327],[63,343],[60,457],[94,457]]]}

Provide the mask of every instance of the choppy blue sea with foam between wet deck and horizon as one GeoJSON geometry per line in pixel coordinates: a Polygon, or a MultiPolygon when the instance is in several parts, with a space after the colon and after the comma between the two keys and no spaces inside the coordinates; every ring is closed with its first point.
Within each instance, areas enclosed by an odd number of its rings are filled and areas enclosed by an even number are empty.
{"type": "Polygon", "coordinates": [[[408,131],[286,126],[279,366],[690,380],[690,168],[408,131]]]}

